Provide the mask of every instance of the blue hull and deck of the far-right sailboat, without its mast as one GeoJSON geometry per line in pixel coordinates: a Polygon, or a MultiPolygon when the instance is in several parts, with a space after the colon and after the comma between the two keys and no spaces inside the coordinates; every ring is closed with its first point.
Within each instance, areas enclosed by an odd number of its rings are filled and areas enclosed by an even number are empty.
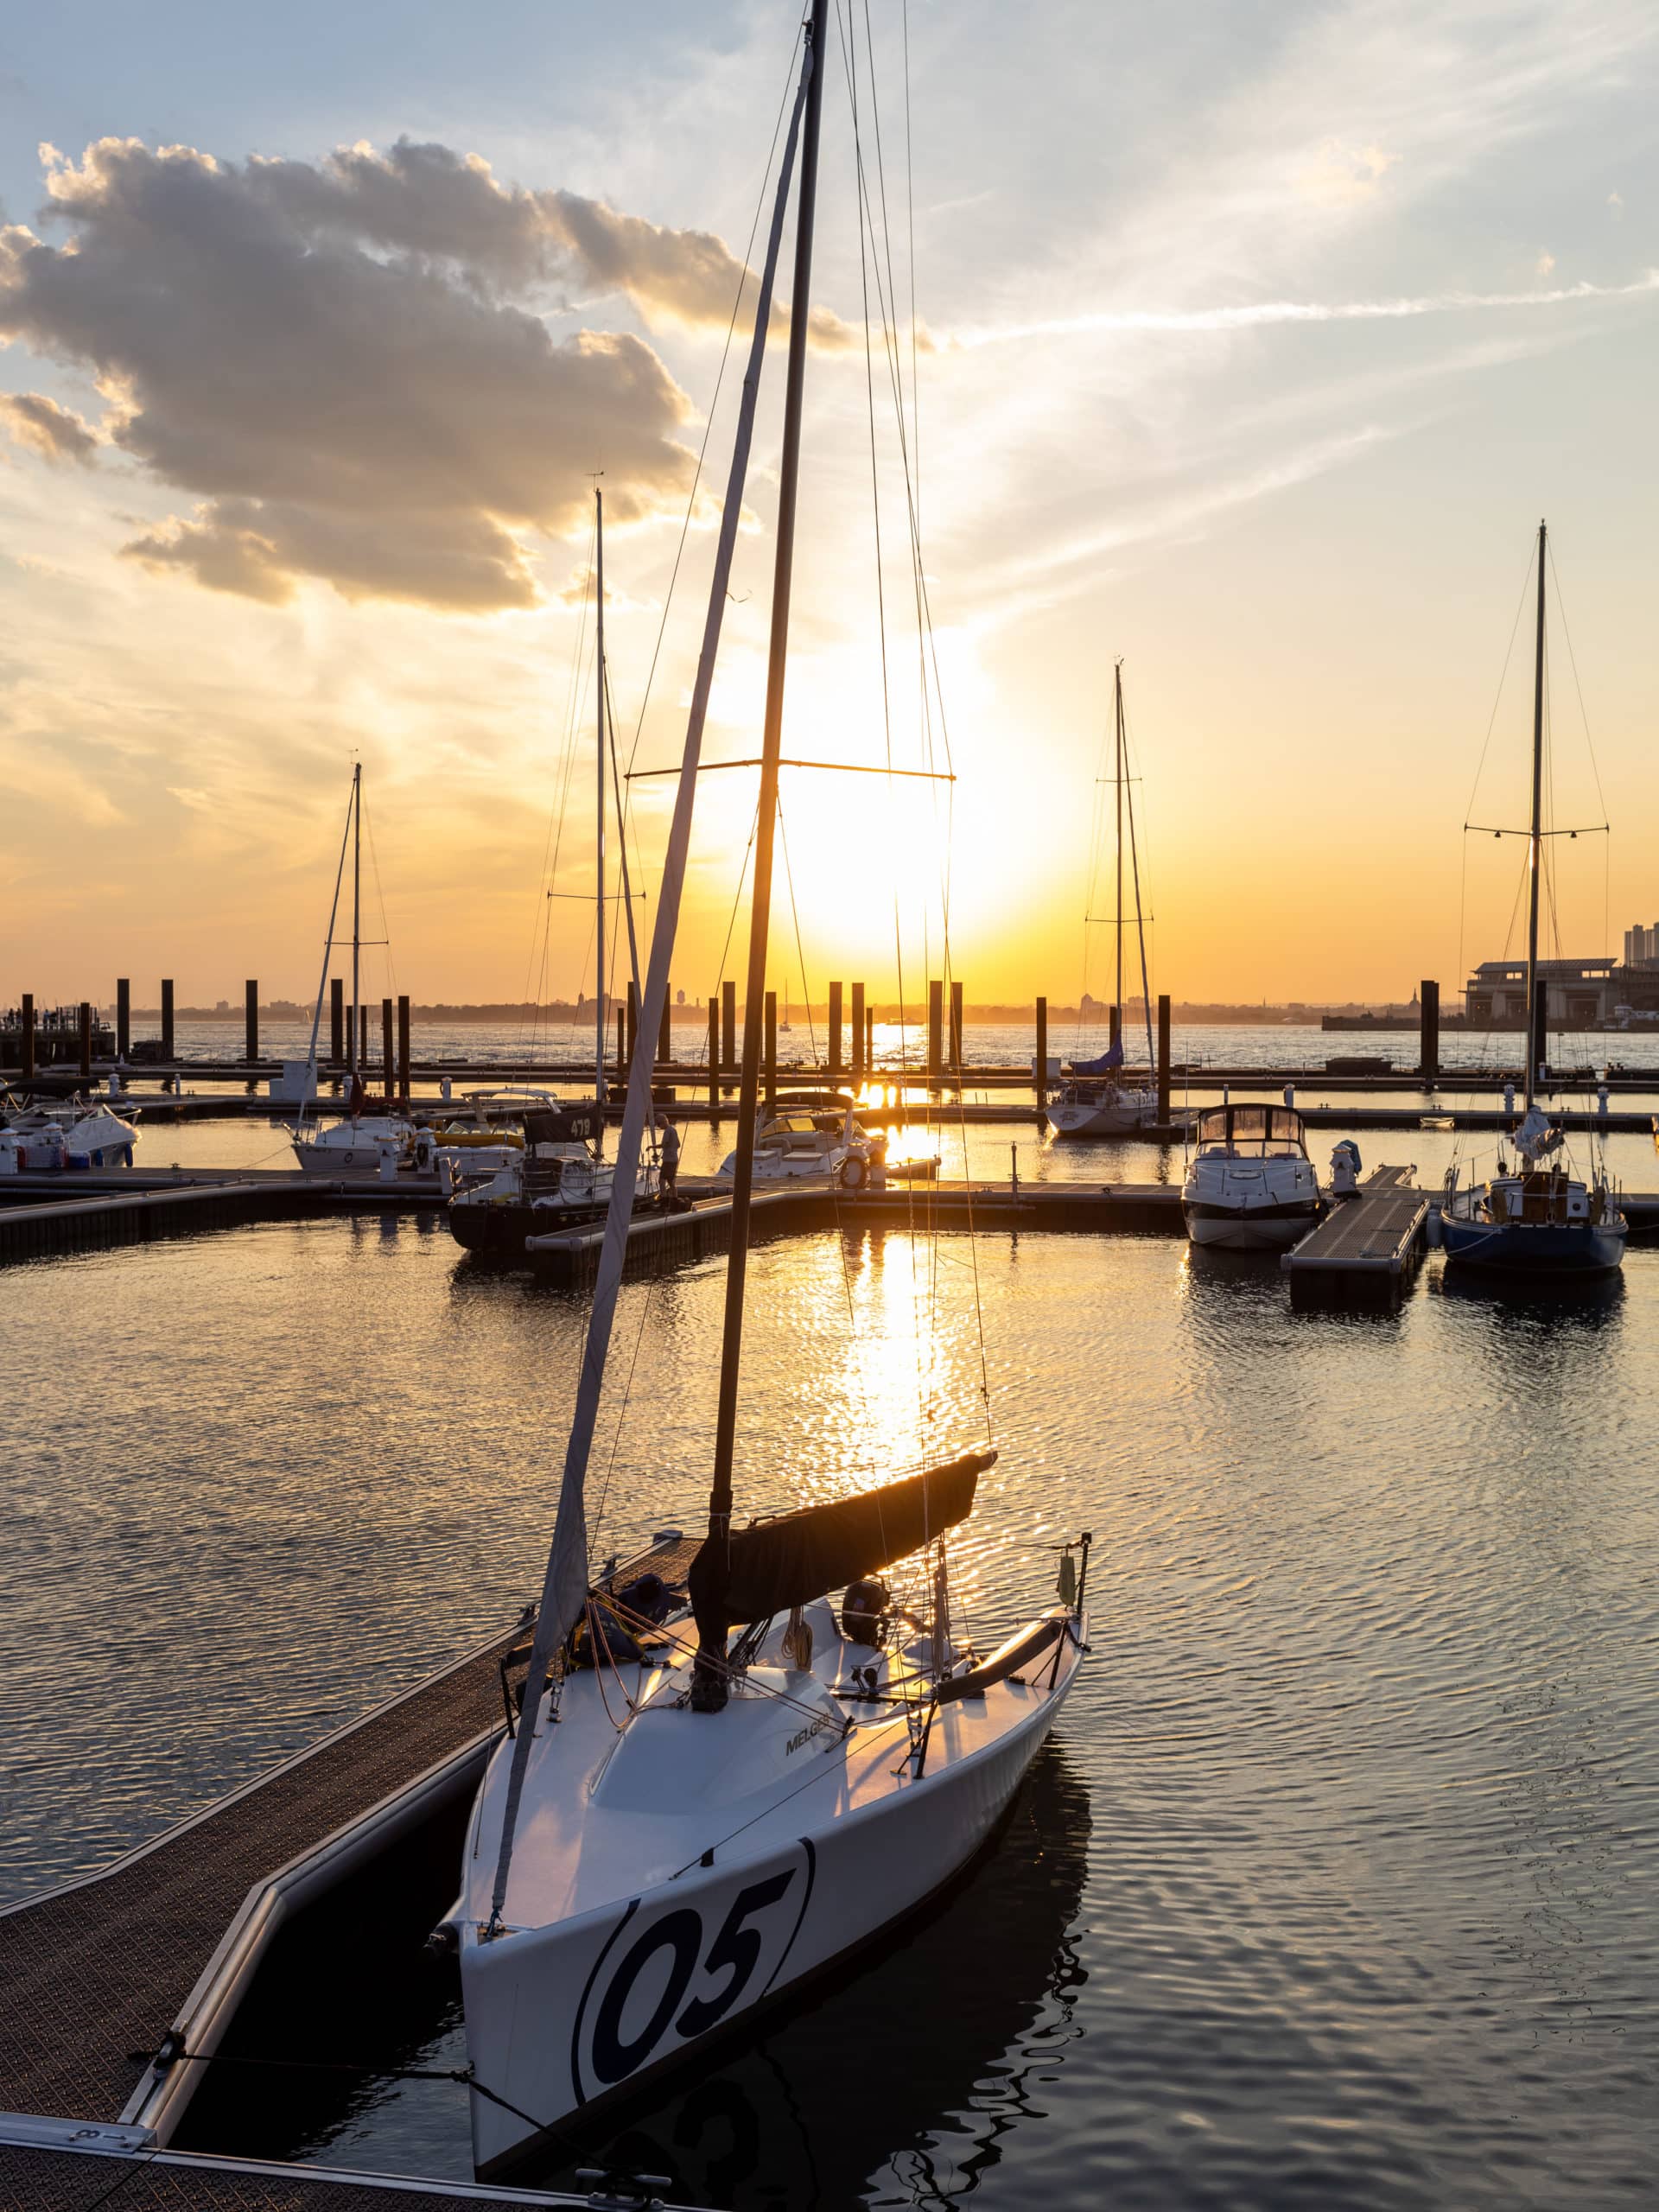
{"type": "MultiPolygon", "coordinates": [[[[1540,1106],[1515,1130],[1511,1168],[1484,1188],[1449,1188],[1440,1206],[1440,1243],[1447,1261],[1464,1267],[1542,1270],[1551,1274],[1610,1274],[1624,1265],[1630,1234],[1617,1194],[1604,1177],[1579,1181],[1551,1166],[1562,1148],[1540,1106]]],[[[1455,1166],[1451,1179],[1455,1179],[1455,1166]]],[[[1449,1181],[1451,1181],[1449,1179],[1449,1181]]]]}

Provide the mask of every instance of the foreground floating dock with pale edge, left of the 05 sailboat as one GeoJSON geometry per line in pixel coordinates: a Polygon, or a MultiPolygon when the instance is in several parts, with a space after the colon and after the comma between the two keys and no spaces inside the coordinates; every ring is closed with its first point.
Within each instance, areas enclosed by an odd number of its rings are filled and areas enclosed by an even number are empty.
{"type": "Polygon", "coordinates": [[[7,2212],[655,2203],[604,2179],[571,2197],[168,2148],[208,2070],[206,2057],[168,2053],[217,2051],[283,1922],[476,1790],[504,1725],[504,1666],[529,1621],[531,1608],[104,1874],[0,1911],[7,2212]]]}

